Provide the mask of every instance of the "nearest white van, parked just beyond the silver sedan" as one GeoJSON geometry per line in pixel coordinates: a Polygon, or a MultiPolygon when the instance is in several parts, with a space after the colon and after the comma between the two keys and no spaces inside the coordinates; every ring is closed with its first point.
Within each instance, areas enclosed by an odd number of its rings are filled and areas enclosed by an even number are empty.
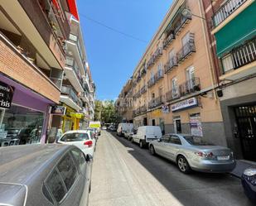
{"type": "Polygon", "coordinates": [[[148,143],[153,140],[162,138],[161,128],[158,126],[142,126],[138,127],[137,134],[133,135],[133,142],[137,142],[142,148],[148,146],[148,143]]]}

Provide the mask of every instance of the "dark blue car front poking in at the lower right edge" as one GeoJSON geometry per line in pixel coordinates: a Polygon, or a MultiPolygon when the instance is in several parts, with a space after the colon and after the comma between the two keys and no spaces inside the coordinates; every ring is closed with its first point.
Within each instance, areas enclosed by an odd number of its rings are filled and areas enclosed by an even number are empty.
{"type": "Polygon", "coordinates": [[[241,181],[244,193],[256,204],[256,168],[244,170],[241,181]]]}

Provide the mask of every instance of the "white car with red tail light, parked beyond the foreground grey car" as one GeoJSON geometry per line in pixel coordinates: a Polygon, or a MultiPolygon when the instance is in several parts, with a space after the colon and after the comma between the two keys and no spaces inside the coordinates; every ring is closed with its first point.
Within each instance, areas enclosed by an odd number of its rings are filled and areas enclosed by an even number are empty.
{"type": "Polygon", "coordinates": [[[87,154],[94,156],[96,141],[93,132],[89,130],[72,130],[65,132],[57,143],[77,146],[85,153],[85,156],[87,154]]]}

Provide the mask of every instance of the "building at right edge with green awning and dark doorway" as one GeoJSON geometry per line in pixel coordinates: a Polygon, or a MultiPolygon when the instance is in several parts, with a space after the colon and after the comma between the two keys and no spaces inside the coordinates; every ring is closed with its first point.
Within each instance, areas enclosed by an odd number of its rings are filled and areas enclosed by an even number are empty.
{"type": "Polygon", "coordinates": [[[228,146],[256,160],[256,2],[204,0],[228,146]]]}

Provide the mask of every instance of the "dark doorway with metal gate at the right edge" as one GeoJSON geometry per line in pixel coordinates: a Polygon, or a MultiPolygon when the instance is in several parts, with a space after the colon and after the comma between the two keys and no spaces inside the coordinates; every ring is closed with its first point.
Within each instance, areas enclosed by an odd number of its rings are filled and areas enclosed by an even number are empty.
{"type": "Polygon", "coordinates": [[[234,108],[244,159],[256,160],[256,105],[234,108]]]}

